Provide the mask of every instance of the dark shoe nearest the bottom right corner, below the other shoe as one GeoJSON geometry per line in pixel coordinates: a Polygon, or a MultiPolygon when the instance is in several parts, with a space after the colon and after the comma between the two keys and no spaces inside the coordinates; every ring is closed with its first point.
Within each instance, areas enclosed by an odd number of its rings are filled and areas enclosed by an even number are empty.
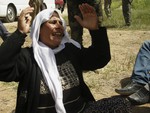
{"type": "Polygon", "coordinates": [[[133,105],[146,104],[150,101],[150,92],[145,87],[143,87],[142,89],[130,95],[128,100],[133,105]]]}

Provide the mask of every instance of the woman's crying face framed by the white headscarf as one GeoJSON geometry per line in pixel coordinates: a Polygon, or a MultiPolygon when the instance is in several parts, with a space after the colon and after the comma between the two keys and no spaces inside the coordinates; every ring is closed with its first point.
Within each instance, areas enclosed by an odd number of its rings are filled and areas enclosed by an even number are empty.
{"type": "Polygon", "coordinates": [[[52,49],[58,47],[64,35],[62,24],[58,14],[54,12],[51,18],[41,25],[40,41],[52,49]]]}

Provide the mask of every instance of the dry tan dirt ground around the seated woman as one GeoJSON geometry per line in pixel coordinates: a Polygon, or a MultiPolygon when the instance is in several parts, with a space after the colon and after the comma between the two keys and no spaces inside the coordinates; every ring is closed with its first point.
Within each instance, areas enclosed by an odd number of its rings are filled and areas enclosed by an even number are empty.
{"type": "MultiPolygon", "coordinates": [[[[16,30],[16,22],[4,23],[10,32],[16,30]]],[[[150,37],[150,31],[139,30],[113,30],[108,29],[108,37],[110,41],[112,60],[104,68],[94,72],[85,72],[85,81],[91,88],[94,97],[98,99],[108,98],[117,95],[114,91],[115,88],[120,88],[122,82],[128,80],[130,77],[132,68],[128,71],[121,67],[129,57],[134,60],[141,43],[144,40],[148,40],[150,37]],[[133,55],[133,56],[132,56],[133,55]],[[114,64],[114,65],[112,65],[114,64]],[[109,68],[109,72],[106,70],[109,68]],[[112,72],[111,72],[112,69],[112,72]],[[114,69],[116,71],[114,72],[114,69]],[[91,77],[91,75],[93,75],[91,77]]],[[[88,32],[85,30],[84,45],[90,44],[90,38],[88,32]]],[[[29,46],[31,44],[29,36],[24,44],[29,46]]],[[[130,63],[130,61],[128,61],[130,63]]],[[[129,66],[133,66],[132,64],[129,66]]],[[[16,83],[3,83],[0,82],[0,113],[11,113],[15,108],[16,102],[16,83]]],[[[150,113],[150,104],[136,106],[133,108],[133,113],[150,113]]]]}

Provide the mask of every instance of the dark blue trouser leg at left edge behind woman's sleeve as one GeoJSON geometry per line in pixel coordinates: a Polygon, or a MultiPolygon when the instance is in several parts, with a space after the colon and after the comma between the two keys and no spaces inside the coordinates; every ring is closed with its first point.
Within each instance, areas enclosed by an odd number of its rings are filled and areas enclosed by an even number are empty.
{"type": "Polygon", "coordinates": [[[9,36],[9,32],[7,31],[6,27],[3,25],[2,21],[0,20],[0,36],[3,40],[5,40],[9,36]]]}

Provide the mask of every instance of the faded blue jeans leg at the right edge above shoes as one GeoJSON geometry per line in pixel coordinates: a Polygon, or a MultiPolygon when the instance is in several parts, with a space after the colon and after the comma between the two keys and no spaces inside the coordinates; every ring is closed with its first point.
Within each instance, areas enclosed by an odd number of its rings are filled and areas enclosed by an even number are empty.
{"type": "Polygon", "coordinates": [[[137,54],[131,79],[143,85],[150,84],[150,40],[142,44],[137,54]]]}

